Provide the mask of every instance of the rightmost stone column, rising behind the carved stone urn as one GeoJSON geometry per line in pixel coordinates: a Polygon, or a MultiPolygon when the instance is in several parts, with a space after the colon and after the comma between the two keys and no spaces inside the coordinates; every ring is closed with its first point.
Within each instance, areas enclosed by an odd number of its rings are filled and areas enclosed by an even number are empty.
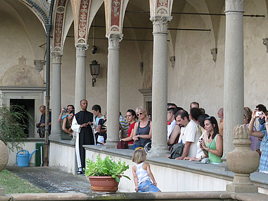
{"type": "Polygon", "coordinates": [[[224,61],[224,137],[223,163],[233,151],[233,128],[244,124],[244,0],[226,0],[226,37],[224,61]]]}

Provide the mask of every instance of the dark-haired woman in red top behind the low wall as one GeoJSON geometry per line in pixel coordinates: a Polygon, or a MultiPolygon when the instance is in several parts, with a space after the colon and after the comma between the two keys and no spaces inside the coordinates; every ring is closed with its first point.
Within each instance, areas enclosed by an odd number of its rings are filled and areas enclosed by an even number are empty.
{"type": "Polygon", "coordinates": [[[128,146],[131,146],[133,145],[134,127],[137,120],[135,111],[133,111],[132,109],[128,109],[128,111],[126,111],[126,119],[128,120],[129,123],[129,128],[127,132],[128,134],[122,140],[128,142],[128,146]]]}

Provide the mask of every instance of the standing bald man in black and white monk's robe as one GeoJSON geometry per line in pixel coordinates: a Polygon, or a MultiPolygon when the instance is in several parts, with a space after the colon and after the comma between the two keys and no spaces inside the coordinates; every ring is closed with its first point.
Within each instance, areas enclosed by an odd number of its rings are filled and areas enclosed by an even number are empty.
{"type": "Polygon", "coordinates": [[[77,175],[82,174],[85,165],[85,149],[83,145],[94,145],[94,137],[91,126],[93,125],[93,113],[86,111],[88,102],[86,99],[80,101],[81,111],[75,114],[72,123],[72,130],[76,133],[75,153],[77,156],[77,175]]]}

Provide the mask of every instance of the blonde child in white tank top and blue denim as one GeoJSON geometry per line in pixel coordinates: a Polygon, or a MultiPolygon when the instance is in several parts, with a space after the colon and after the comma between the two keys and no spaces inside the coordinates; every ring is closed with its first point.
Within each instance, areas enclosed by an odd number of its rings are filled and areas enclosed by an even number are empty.
{"type": "Polygon", "coordinates": [[[132,161],[137,163],[132,168],[133,180],[135,183],[135,191],[141,192],[161,192],[157,188],[157,183],[150,169],[150,164],[144,162],[146,160],[146,152],[144,149],[136,149],[132,155],[132,161]],[[151,182],[151,180],[153,183],[151,182]]]}

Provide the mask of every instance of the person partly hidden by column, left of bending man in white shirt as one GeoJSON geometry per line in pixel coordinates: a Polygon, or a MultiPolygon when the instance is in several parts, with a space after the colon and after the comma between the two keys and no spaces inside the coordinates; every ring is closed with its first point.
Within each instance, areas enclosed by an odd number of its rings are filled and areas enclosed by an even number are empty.
{"type": "Polygon", "coordinates": [[[167,111],[167,122],[169,124],[167,130],[167,144],[169,146],[169,151],[171,150],[174,144],[177,144],[180,138],[180,126],[176,124],[175,113],[180,111],[180,108],[168,108],[167,111]]]}

